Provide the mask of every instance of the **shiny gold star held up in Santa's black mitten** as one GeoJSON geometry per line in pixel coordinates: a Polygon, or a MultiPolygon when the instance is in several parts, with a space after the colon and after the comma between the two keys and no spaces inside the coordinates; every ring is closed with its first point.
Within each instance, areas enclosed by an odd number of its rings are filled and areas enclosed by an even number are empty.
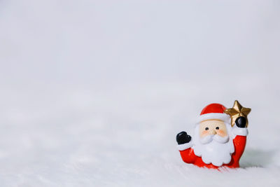
{"type": "Polygon", "coordinates": [[[230,118],[232,118],[232,122],[231,122],[232,127],[233,125],[235,125],[235,120],[240,116],[246,118],[246,127],[248,127],[247,115],[248,113],[250,113],[250,111],[251,109],[241,106],[241,104],[237,100],[235,100],[235,104],[232,106],[232,108],[225,109],[225,111],[223,112],[230,115],[230,118]]]}

